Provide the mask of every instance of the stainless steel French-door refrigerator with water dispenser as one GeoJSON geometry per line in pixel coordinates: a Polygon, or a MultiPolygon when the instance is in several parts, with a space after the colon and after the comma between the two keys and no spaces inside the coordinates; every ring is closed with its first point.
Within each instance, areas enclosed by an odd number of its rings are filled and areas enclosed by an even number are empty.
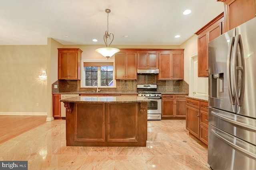
{"type": "Polygon", "coordinates": [[[208,164],[256,170],[256,18],[208,44],[208,164]]]}

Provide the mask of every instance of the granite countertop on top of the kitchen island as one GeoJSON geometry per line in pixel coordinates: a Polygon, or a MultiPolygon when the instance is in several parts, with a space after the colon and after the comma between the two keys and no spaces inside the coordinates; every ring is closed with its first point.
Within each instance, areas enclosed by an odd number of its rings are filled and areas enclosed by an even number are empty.
{"type": "Polygon", "coordinates": [[[60,102],[75,103],[138,103],[150,102],[148,100],[138,100],[137,96],[76,96],[60,100],[60,102]]]}

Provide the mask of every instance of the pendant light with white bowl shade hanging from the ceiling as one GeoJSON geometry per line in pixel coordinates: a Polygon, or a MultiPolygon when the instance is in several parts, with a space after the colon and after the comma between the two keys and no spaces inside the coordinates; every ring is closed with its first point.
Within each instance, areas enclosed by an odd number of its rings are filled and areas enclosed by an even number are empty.
{"type": "MultiPolygon", "coordinates": [[[[107,14],[109,14],[111,12],[111,10],[106,9],[105,12],[107,14]]],[[[108,20],[107,20],[107,22],[108,22],[108,20]]],[[[108,29],[105,32],[103,39],[104,39],[106,47],[96,49],[95,50],[96,52],[100,53],[101,55],[103,55],[104,57],[106,57],[108,59],[109,57],[112,57],[112,55],[114,55],[115,53],[118,53],[120,51],[120,49],[109,47],[110,44],[112,43],[112,41],[114,40],[114,34],[108,33],[108,29]],[[110,41],[110,44],[108,44],[108,41],[110,41]]]]}

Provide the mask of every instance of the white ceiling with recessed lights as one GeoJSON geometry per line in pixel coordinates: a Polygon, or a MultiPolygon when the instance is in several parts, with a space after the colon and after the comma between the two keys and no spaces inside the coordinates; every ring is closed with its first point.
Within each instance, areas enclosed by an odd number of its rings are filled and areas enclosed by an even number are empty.
{"type": "Polygon", "coordinates": [[[46,45],[47,37],[103,45],[106,8],[112,45],[180,45],[224,6],[216,0],[0,0],[0,45],[46,45]],[[186,9],[191,14],[183,15],[186,9]]]}

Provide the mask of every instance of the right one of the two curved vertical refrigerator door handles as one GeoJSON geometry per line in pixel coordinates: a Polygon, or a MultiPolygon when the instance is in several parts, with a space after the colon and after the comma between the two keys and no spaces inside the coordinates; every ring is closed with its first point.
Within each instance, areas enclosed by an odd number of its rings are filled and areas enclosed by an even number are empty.
{"type": "Polygon", "coordinates": [[[244,49],[243,49],[243,44],[242,44],[242,38],[241,35],[238,34],[235,37],[235,42],[234,42],[234,53],[232,55],[232,80],[233,80],[233,88],[234,88],[234,95],[235,95],[235,100],[236,104],[238,106],[242,106],[242,101],[244,98],[244,49]],[[240,49],[240,59],[237,59],[238,56],[238,45],[240,49]],[[241,65],[237,66],[237,61],[240,61],[241,65]],[[237,70],[241,71],[241,77],[238,78],[237,80],[237,70]],[[240,89],[238,89],[238,84],[240,84],[240,89]]]}

